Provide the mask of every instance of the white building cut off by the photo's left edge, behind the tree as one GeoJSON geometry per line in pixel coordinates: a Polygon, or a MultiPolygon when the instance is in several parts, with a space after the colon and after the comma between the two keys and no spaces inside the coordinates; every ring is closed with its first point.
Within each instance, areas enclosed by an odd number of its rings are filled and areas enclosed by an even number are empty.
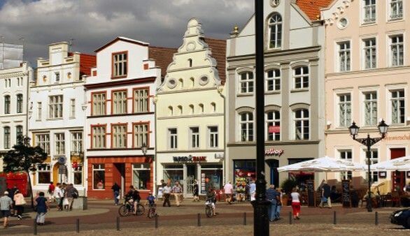
{"type": "Polygon", "coordinates": [[[27,62],[0,70],[0,170],[3,154],[13,148],[20,135],[27,135],[29,82],[33,78],[27,62]]]}

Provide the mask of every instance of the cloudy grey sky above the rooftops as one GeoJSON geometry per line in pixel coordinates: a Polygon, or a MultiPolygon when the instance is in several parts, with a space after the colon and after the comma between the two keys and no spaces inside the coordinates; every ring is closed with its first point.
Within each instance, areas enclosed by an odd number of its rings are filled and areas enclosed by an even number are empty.
{"type": "Polygon", "coordinates": [[[0,0],[0,36],[24,38],[24,57],[36,66],[48,44],[70,38],[74,51],[87,53],[116,36],[178,47],[192,17],[207,37],[228,38],[252,13],[251,0],[0,0]]]}

